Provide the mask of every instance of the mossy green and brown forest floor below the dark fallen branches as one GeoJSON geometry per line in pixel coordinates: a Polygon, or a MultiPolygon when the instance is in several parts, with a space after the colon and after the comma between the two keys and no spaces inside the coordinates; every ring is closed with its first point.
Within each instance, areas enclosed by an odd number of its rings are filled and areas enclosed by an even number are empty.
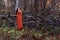
{"type": "Polygon", "coordinates": [[[14,27],[1,27],[0,40],[60,40],[60,34],[42,33],[35,29],[18,31],[14,27]]]}

